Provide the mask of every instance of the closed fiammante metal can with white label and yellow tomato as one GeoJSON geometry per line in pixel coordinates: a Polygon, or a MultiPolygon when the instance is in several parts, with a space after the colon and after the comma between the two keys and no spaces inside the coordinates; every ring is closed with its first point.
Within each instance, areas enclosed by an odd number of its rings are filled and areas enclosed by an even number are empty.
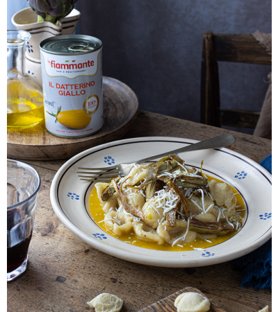
{"type": "Polygon", "coordinates": [[[102,42],[61,35],[40,42],[44,119],[56,137],[87,137],[104,125],[102,42]]]}

